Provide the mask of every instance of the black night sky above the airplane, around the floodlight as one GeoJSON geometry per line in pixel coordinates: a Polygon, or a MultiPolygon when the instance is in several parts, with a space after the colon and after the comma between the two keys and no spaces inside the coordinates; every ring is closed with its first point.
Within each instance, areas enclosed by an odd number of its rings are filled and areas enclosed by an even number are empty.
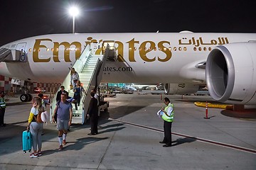
{"type": "Polygon", "coordinates": [[[0,45],[34,35],[72,33],[256,33],[255,0],[1,0],[0,45]]]}

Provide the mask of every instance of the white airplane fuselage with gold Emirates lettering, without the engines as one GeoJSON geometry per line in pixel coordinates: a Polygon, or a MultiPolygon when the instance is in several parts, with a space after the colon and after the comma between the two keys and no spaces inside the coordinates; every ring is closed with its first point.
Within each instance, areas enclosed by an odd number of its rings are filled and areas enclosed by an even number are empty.
{"type": "Polygon", "coordinates": [[[114,42],[118,61],[107,62],[102,82],[206,83],[206,62],[213,47],[256,40],[244,33],[97,33],[40,35],[2,47],[25,50],[28,62],[0,62],[0,74],[18,79],[61,83],[87,44],[114,42]]]}

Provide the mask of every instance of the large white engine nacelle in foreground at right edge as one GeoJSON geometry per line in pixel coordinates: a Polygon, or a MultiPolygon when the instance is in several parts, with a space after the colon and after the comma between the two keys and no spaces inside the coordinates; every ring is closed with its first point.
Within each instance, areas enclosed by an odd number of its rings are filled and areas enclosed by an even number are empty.
{"type": "Polygon", "coordinates": [[[206,84],[216,101],[256,104],[256,42],[215,47],[206,62],[206,84]]]}

